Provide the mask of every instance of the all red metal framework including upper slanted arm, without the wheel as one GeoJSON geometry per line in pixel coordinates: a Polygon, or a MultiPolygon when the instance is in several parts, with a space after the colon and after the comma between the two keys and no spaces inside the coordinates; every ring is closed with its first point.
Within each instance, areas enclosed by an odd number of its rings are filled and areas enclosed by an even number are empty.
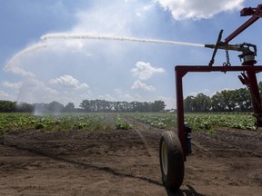
{"type": "MultiPolygon", "coordinates": [[[[262,17],[262,5],[257,5],[257,8],[244,8],[240,12],[241,16],[252,15],[251,18],[247,20],[246,23],[237,28],[235,32],[229,34],[225,39],[224,44],[228,44],[232,39],[234,39],[238,34],[243,32],[249,25],[252,25],[262,17]]],[[[220,32],[218,36],[218,41],[221,39],[222,32],[220,32]]],[[[218,44],[218,43],[217,43],[218,44]]],[[[260,95],[257,86],[257,76],[256,73],[262,72],[262,65],[254,66],[257,62],[255,61],[256,53],[252,53],[251,51],[243,52],[243,54],[239,55],[244,59],[244,63],[242,66],[212,66],[214,63],[214,57],[217,52],[217,45],[215,47],[215,51],[209,65],[198,65],[198,66],[185,66],[185,65],[177,65],[175,68],[176,73],[176,118],[177,118],[177,135],[179,137],[179,141],[181,142],[183,152],[184,152],[184,160],[186,162],[186,132],[185,132],[185,120],[184,120],[184,99],[183,99],[183,77],[188,72],[246,72],[242,74],[245,76],[245,79],[239,78],[241,82],[247,84],[251,103],[253,105],[254,115],[257,117],[257,125],[262,126],[262,108],[260,95]],[[243,66],[244,65],[244,66],[243,66]]],[[[229,48],[224,48],[229,49],[229,48]]]]}

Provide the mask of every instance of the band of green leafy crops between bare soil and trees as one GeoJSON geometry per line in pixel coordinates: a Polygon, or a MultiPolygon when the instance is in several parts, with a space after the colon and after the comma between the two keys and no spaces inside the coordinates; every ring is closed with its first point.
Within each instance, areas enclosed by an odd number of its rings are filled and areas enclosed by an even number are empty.
{"type": "MultiPolygon", "coordinates": [[[[143,122],[159,129],[176,129],[175,113],[71,113],[36,116],[30,113],[1,113],[0,131],[39,130],[41,132],[72,130],[129,129],[126,118],[143,122]]],[[[255,118],[250,113],[187,113],[185,122],[195,131],[213,131],[217,127],[256,130],[255,118]]]]}

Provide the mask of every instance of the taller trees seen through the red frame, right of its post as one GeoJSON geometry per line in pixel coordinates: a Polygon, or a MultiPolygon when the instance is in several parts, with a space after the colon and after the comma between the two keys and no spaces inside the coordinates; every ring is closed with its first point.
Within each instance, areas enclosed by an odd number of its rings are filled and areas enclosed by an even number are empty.
{"type": "MultiPolygon", "coordinates": [[[[260,97],[262,82],[258,83],[260,97]]],[[[185,112],[251,112],[252,104],[247,88],[223,90],[209,97],[204,93],[187,96],[184,100],[185,112]]]]}

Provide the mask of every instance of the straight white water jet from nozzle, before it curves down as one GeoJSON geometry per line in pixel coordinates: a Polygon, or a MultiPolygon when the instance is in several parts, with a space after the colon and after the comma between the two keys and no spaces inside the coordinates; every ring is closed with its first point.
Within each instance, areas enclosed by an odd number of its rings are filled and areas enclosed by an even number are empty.
{"type": "Polygon", "coordinates": [[[115,40],[115,41],[129,41],[129,42],[141,42],[141,43],[156,43],[156,44],[179,44],[187,46],[205,47],[205,44],[195,44],[186,42],[175,42],[168,40],[156,40],[156,39],[143,39],[136,37],[124,37],[124,36],[111,36],[111,35],[95,35],[95,34],[45,34],[41,36],[41,40],[48,41],[54,39],[96,39],[96,40],[115,40]]]}

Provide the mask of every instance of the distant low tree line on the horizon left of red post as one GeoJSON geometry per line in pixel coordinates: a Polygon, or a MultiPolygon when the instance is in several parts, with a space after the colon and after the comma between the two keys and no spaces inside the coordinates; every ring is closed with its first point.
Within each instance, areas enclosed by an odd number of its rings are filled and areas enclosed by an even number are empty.
{"type": "Polygon", "coordinates": [[[114,113],[114,112],[162,112],[166,104],[163,101],[151,102],[110,102],[106,100],[83,100],[79,108],[74,103],[16,103],[0,100],[0,113],[114,113]]]}

